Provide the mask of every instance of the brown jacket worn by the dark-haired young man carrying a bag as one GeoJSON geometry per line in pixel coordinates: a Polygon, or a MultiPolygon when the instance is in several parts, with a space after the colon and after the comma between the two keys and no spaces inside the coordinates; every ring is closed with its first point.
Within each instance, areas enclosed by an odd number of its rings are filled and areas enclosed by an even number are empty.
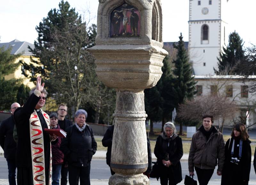
{"type": "Polygon", "coordinates": [[[194,166],[201,169],[215,169],[218,164],[218,171],[221,172],[225,160],[223,136],[216,127],[212,127],[212,133],[207,141],[202,129],[204,129],[203,125],[192,137],[188,170],[194,172],[194,166]]]}

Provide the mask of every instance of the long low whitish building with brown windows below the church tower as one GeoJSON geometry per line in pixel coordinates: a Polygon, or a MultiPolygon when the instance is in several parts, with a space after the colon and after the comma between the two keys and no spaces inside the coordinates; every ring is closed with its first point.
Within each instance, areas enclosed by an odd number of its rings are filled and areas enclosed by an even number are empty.
{"type": "MultiPolygon", "coordinates": [[[[256,78],[256,76],[251,77],[256,78]]],[[[195,81],[197,81],[196,96],[207,96],[217,91],[220,96],[226,96],[236,103],[239,111],[234,113],[231,119],[225,121],[225,126],[233,126],[234,121],[244,121],[248,115],[247,111],[249,111],[249,125],[256,122],[256,97],[248,91],[250,82],[243,83],[242,77],[239,75],[195,75],[195,81]]],[[[218,122],[221,120],[215,121],[215,124],[218,122]]],[[[256,127],[256,125],[252,127],[256,127]]]]}

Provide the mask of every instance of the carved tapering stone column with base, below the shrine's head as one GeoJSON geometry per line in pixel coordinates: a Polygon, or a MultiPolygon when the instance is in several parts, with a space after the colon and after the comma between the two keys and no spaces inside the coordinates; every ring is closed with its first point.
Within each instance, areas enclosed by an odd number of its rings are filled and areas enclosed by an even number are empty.
{"type": "Polygon", "coordinates": [[[149,184],[143,91],[117,90],[109,185],[149,184]]]}

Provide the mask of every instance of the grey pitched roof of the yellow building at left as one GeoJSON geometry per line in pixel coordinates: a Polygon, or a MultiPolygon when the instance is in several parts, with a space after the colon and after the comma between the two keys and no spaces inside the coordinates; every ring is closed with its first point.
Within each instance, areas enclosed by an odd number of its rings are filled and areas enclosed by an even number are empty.
{"type": "Polygon", "coordinates": [[[0,47],[3,47],[3,46],[5,47],[5,49],[12,47],[12,51],[11,51],[12,55],[21,54],[21,55],[27,55],[27,56],[32,55],[32,53],[28,50],[28,46],[30,46],[32,49],[35,48],[34,44],[31,44],[26,41],[21,42],[17,39],[11,42],[0,43],[0,47]]]}

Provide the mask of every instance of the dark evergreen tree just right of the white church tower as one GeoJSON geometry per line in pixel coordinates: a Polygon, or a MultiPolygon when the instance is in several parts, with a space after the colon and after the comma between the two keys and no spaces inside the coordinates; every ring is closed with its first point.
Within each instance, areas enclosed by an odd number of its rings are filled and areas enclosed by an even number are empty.
{"type": "Polygon", "coordinates": [[[214,69],[216,74],[236,74],[239,73],[239,63],[244,61],[243,39],[234,31],[229,35],[227,48],[223,47],[218,59],[218,70],[214,69]]]}

